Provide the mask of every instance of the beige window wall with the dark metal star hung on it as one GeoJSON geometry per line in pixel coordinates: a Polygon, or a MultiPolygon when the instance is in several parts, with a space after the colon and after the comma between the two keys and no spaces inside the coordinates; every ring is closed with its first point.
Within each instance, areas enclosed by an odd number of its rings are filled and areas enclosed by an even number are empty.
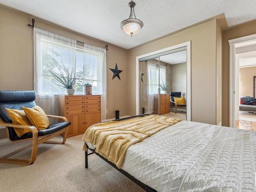
{"type": "MultiPolygon", "coordinates": [[[[28,27],[31,17],[25,13],[0,7],[0,90],[33,90],[33,29],[28,27]]],[[[75,38],[86,44],[104,47],[106,42],[93,39],[71,30],[36,19],[36,27],[75,38]]],[[[113,118],[115,110],[120,116],[127,115],[127,51],[109,44],[107,63],[107,110],[106,118],[113,118]],[[123,70],[112,80],[109,68],[115,64],[123,70]]],[[[3,130],[1,131],[3,132],[3,130]]],[[[1,134],[0,132],[0,139],[1,134]]],[[[4,131],[5,132],[5,131],[4,131]]],[[[4,136],[6,137],[6,136],[4,136]]]]}

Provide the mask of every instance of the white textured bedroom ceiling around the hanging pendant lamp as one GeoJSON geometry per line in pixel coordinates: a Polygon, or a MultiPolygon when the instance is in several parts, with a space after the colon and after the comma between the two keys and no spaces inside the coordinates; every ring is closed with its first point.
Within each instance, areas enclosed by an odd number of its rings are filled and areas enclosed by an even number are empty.
{"type": "Polygon", "coordinates": [[[74,31],[129,49],[202,20],[225,13],[228,26],[256,18],[256,0],[134,0],[144,27],[131,37],[120,28],[129,16],[128,0],[0,0],[74,31]]]}

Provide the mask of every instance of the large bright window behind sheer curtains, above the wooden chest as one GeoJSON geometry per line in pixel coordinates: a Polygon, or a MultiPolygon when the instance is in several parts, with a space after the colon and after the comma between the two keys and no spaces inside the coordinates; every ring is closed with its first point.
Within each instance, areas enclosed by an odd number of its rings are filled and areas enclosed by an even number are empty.
{"type": "Polygon", "coordinates": [[[80,47],[75,39],[43,30],[35,30],[35,89],[39,96],[66,94],[49,71],[59,74],[64,65],[70,71],[82,73],[76,94],[83,94],[83,85],[92,84],[93,94],[102,94],[105,82],[105,50],[92,46],[80,47]]]}

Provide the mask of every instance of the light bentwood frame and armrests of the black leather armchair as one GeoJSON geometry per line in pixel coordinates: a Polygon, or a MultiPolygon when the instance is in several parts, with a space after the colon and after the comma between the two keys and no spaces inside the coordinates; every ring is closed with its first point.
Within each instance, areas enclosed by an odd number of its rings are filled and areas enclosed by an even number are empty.
{"type": "MultiPolygon", "coordinates": [[[[68,121],[68,119],[66,117],[61,117],[61,116],[55,116],[55,115],[47,115],[48,118],[53,118],[53,119],[59,119],[62,121],[68,121]]],[[[8,129],[7,127],[15,127],[15,128],[20,128],[20,129],[30,129],[32,132],[33,137],[32,138],[28,138],[28,139],[22,139],[22,140],[17,140],[17,141],[11,141],[13,143],[16,142],[20,142],[20,141],[25,141],[25,140],[32,140],[32,144],[29,144],[23,148],[20,148],[19,150],[16,150],[8,155],[5,155],[3,157],[0,157],[0,163],[13,163],[13,164],[23,164],[23,165],[30,165],[32,164],[35,159],[36,159],[36,155],[37,155],[37,148],[38,145],[41,143],[50,143],[50,144],[64,144],[66,142],[67,139],[67,129],[68,127],[66,127],[65,129],[62,129],[56,133],[53,133],[51,135],[47,135],[47,136],[42,136],[42,137],[38,137],[38,130],[36,129],[35,126],[32,125],[18,125],[18,124],[12,124],[12,123],[5,123],[3,121],[0,122],[0,126],[5,126],[6,129],[8,129]],[[62,141],[48,141],[49,139],[56,137],[58,135],[61,135],[63,137],[62,141]],[[30,155],[30,159],[28,160],[24,160],[24,159],[11,159],[9,157],[26,150],[26,148],[32,147],[32,151],[31,151],[31,155],[30,155]]],[[[9,132],[7,130],[8,133],[8,138],[9,137],[9,132]]]]}

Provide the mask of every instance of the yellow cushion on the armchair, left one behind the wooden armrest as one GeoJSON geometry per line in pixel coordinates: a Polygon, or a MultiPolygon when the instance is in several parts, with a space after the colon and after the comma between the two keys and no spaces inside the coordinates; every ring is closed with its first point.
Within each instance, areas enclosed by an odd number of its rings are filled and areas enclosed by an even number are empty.
{"type": "MultiPolygon", "coordinates": [[[[29,119],[23,110],[13,110],[5,108],[6,112],[10,116],[13,124],[31,125],[29,119]]],[[[18,137],[23,136],[25,133],[31,132],[29,129],[14,128],[15,133],[18,137]]]]}

